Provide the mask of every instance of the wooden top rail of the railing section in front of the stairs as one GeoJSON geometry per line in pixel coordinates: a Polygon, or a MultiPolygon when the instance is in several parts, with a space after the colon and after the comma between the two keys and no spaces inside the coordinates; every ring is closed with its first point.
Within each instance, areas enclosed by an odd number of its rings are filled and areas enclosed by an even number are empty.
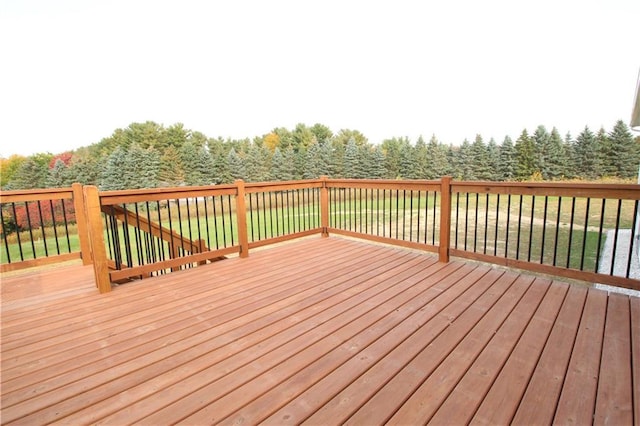
{"type": "Polygon", "coordinates": [[[235,185],[178,186],[171,188],[131,189],[125,191],[100,191],[100,204],[112,205],[144,201],[173,200],[217,195],[236,195],[235,185]]]}

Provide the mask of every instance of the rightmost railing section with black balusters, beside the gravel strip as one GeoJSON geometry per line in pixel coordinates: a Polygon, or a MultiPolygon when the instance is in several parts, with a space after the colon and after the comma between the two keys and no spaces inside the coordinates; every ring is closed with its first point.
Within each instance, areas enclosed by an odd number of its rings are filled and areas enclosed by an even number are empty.
{"type": "Polygon", "coordinates": [[[452,256],[640,290],[638,185],[454,182],[451,192],[452,256]]]}

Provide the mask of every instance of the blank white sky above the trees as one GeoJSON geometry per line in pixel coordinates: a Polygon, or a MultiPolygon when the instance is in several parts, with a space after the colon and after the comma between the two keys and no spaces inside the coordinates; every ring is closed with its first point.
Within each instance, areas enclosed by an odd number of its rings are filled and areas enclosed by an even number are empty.
{"type": "Polygon", "coordinates": [[[0,155],[116,128],[322,123],[372,143],[629,121],[637,0],[0,0],[0,155]]]}

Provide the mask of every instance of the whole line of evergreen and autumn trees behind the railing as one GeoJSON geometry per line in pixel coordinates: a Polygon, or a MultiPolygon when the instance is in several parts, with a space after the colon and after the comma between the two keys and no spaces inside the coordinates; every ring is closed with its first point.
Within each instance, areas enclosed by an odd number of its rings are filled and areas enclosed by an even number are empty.
{"type": "Polygon", "coordinates": [[[515,141],[497,143],[477,135],[450,145],[432,136],[394,137],[371,144],[357,130],[333,133],[327,126],[298,124],[250,139],[209,138],[148,121],[117,129],[73,152],[0,159],[2,189],[97,185],[102,190],[317,178],[459,180],[633,179],[640,137],[619,120],[610,131],[585,127],[574,139],[554,127],[526,129],[515,141]]]}

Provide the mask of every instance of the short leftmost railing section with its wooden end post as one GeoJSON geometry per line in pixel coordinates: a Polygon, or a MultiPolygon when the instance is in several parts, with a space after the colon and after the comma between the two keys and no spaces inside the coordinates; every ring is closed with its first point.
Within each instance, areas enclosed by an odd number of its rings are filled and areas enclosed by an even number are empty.
{"type": "Polygon", "coordinates": [[[91,264],[82,185],[2,191],[0,271],[82,259],[91,264]]]}

